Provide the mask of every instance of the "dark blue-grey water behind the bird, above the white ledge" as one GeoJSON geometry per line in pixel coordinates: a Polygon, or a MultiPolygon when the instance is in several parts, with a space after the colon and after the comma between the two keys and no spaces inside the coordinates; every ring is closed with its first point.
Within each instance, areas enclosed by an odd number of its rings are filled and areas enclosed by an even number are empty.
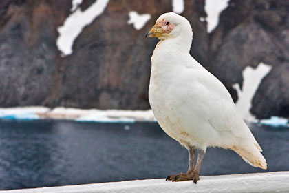
{"type": "MultiPolygon", "coordinates": [[[[268,172],[289,170],[289,129],[250,125],[268,172]]],[[[188,153],[157,123],[0,121],[0,190],[186,172],[188,153]]],[[[230,150],[207,150],[201,175],[264,172],[230,150]]]]}

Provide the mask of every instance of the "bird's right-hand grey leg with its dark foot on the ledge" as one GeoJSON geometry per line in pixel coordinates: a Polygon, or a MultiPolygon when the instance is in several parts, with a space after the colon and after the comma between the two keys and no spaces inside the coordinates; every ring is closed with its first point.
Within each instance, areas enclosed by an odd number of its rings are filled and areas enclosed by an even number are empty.
{"type": "Polygon", "coordinates": [[[202,165],[202,161],[204,158],[204,150],[197,149],[197,164],[195,165],[195,169],[193,169],[192,172],[186,172],[186,174],[179,174],[175,176],[173,181],[189,181],[193,180],[194,183],[197,183],[198,180],[200,180],[200,169],[202,165]]]}

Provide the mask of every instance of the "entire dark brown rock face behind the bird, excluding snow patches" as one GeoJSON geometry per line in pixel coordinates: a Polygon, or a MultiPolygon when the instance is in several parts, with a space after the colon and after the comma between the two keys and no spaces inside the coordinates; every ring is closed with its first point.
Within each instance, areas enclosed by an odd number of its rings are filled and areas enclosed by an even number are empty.
{"type": "MultiPolygon", "coordinates": [[[[84,0],[86,10],[95,0],[84,0]]],[[[74,108],[149,108],[151,54],[157,39],[145,32],[171,12],[171,0],[109,1],[83,28],[73,53],[61,58],[57,28],[70,14],[70,0],[3,0],[0,5],[0,106],[63,105],[74,108]],[[129,12],[149,13],[144,28],[128,25],[129,12]]],[[[206,32],[204,0],[185,1],[182,15],[194,32],[191,54],[232,88],[242,71],[260,62],[272,70],[259,86],[251,112],[258,118],[289,116],[288,1],[231,0],[220,23],[206,32]]]]}

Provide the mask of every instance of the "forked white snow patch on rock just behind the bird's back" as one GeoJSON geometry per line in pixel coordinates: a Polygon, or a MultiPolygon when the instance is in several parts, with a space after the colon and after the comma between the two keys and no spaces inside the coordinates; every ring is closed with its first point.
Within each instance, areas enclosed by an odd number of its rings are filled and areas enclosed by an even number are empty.
{"type": "Polygon", "coordinates": [[[237,110],[242,113],[244,119],[254,121],[255,117],[250,114],[252,106],[252,99],[259,87],[262,79],[270,72],[272,66],[264,63],[259,63],[256,69],[247,66],[242,72],[243,75],[243,89],[240,89],[238,83],[233,84],[233,88],[237,90],[238,101],[236,103],[237,110]]]}

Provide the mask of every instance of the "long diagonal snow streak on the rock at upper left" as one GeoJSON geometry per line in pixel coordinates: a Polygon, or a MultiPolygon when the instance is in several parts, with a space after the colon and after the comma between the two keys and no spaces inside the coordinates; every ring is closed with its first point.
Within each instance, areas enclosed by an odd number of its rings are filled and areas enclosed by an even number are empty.
{"type": "MultiPolygon", "coordinates": [[[[79,2],[81,1],[73,1],[74,7],[72,8],[75,8],[75,5],[79,2]]],[[[103,13],[108,2],[109,0],[97,0],[84,12],[81,11],[80,8],[76,8],[76,10],[65,19],[63,26],[58,28],[59,37],[56,41],[58,50],[62,52],[62,57],[72,54],[72,45],[76,37],[81,34],[85,26],[92,23],[96,17],[103,13]]]]}

